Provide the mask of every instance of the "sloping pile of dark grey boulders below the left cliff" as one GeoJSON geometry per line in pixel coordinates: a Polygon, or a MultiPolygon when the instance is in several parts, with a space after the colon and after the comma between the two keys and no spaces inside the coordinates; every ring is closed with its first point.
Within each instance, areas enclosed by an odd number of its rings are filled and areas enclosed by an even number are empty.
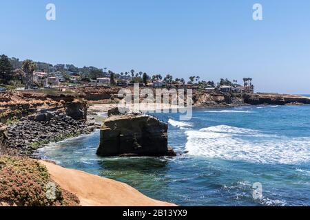
{"type": "Polygon", "coordinates": [[[19,155],[32,155],[39,147],[69,137],[91,133],[94,127],[77,121],[65,113],[48,112],[30,115],[10,124],[6,130],[6,145],[16,148],[19,155]]]}

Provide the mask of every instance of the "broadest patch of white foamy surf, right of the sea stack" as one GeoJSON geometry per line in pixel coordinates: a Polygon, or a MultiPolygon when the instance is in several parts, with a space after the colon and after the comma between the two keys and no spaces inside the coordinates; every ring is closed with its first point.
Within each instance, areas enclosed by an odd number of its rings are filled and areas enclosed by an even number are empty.
{"type": "Polygon", "coordinates": [[[310,137],[289,139],[227,125],[185,133],[185,148],[189,155],[263,164],[300,164],[310,161],[310,137]]]}

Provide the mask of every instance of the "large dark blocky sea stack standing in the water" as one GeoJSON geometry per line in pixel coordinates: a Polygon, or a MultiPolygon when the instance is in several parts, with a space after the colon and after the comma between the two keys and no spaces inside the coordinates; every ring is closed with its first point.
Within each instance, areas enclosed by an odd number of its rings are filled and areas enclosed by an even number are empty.
{"type": "Polygon", "coordinates": [[[141,113],[111,114],[101,126],[97,154],[110,156],[175,155],[167,145],[165,122],[141,113]]]}

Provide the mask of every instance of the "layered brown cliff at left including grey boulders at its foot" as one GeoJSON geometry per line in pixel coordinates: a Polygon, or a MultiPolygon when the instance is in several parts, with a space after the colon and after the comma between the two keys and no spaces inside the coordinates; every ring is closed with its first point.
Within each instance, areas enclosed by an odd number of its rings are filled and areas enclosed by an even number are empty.
{"type": "Polygon", "coordinates": [[[66,94],[42,91],[0,93],[0,141],[19,155],[32,153],[48,142],[89,133],[87,102],[66,94]]]}

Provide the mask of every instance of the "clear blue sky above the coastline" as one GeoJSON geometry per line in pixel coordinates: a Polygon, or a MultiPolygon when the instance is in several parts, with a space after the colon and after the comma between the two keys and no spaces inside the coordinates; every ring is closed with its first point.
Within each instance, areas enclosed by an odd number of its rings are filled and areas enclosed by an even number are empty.
{"type": "Polygon", "coordinates": [[[310,94],[309,10],[309,0],[3,0],[0,53],[115,72],[252,77],[256,91],[310,94]],[[47,3],[56,21],[45,19],[47,3]],[[254,3],[263,21],[252,19],[254,3]]]}

